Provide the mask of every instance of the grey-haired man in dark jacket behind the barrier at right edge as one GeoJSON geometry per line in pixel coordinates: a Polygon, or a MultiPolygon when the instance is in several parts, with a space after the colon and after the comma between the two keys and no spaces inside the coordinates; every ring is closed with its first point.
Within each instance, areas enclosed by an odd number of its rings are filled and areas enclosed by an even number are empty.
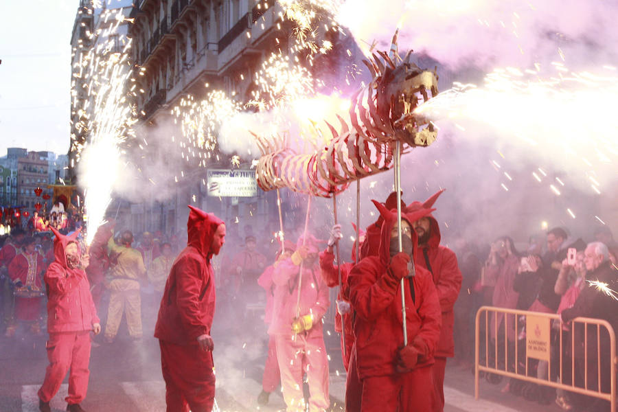
{"type": "MultiPolygon", "coordinates": [[[[609,252],[605,244],[601,242],[589,243],[584,251],[584,264],[586,266],[586,280],[589,282],[599,282],[606,284],[611,290],[618,289],[618,270],[609,261],[609,252]]],[[[593,284],[587,284],[577,297],[572,308],[565,309],[560,314],[562,322],[569,323],[576,317],[588,317],[604,319],[612,325],[614,330],[618,330],[618,301],[613,297],[597,290],[593,284]]],[[[581,330],[573,330],[579,333],[581,330]]],[[[584,336],[580,336],[584,339],[584,336]]],[[[578,339],[575,339],[578,341],[578,339]]],[[[610,353],[610,340],[608,334],[601,332],[600,343],[597,342],[597,334],[588,332],[588,359],[597,359],[597,345],[600,346],[601,358],[604,359],[610,353]]],[[[577,358],[575,359],[577,362],[577,358]]],[[[582,361],[581,367],[584,367],[582,361]]],[[[576,367],[577,369],[577,367],[576,367]]],[[[610,363],[601,363],[601,388],[597,384],[597,362],[588,362],[588,388],[600,389],[604,392],[610,390],[610,363]]],[[[593,401],[593,405],[588,403],[589,411],[608,411],[609,404],[606,401],[593,401]]]]}

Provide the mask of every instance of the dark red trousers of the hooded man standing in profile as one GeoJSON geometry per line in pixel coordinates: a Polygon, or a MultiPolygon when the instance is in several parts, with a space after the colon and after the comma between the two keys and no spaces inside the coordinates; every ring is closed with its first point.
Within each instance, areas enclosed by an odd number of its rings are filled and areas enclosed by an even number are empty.
{"type": "Polygon", "coordinates": [[[211,412],[215,377],[212,352],[194,345],[159,341],[161,370],[165,379],[167,412],[211,412]]]}

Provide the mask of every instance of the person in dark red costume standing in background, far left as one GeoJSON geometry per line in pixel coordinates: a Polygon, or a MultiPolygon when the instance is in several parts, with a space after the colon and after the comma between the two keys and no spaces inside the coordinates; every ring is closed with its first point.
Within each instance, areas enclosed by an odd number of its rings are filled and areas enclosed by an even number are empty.
{"type": "MultiPolygon", "coordinates": [[[[25,238],[22,242],[23,251],[11,260],[8,274],[14,284],[15,318],[14,321],[30,323],[30,330],[34,334],[41,334],[41,325],[38,323],[43,299],[42,274],[45,271],[43,256],[35,249],[35,240],[25,238]]],[[[6,328],[6,336],[15,335],[15,322],[6,328]]]]}

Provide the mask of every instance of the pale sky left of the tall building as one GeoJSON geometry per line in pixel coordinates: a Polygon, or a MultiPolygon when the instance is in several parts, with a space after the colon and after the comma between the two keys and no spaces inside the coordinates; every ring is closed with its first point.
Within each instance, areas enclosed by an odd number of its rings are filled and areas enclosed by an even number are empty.
{"type": "Polygon", "coordinates": [[[71,31],[79,0],[0,2],[0,156],[69,150],[71,31]]]}

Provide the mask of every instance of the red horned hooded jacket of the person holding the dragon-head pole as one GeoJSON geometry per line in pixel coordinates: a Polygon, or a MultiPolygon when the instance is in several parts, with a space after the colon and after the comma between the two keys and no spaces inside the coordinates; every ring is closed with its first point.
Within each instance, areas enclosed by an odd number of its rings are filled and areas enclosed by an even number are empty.
{"type": "MultiPolygon", "coordinates": [[[[396,225],[396,214],[380,203],[374,203],[384,218],[378,256],[364,258],[350,272],[350,301],[356,311],[356,363],[361,379],[396,374],[398,350],[403,346],[402,291],[400,282],[387,274],[391,260],[391,229],[396,225]]],[[[426,216],[431,210],[408,216],[404,214],[402,218],[410,223],[426,216]]],[[[412,234],[416,255],[417,238],[414,231],[412,234]]],[[[404,293],[408,342],[419,336],[428,347],[428,356],[416,367],[431,365],[441,325],[439,301],[431,273],[417,267],[413,278],[404,279],[404,293]],[[410,282],[413,284],[414,299],[410,282]]]]}

